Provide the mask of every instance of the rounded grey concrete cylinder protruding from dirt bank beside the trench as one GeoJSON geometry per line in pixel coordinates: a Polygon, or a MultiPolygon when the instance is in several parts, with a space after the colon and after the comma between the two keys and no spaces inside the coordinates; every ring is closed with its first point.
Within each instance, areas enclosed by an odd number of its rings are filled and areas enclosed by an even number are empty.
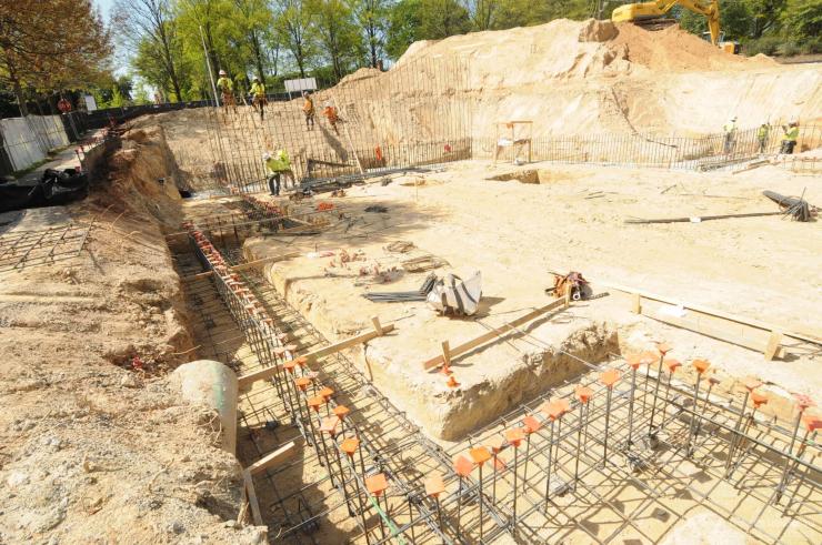
{"type": "Polygon", "coordinates": [[[182,398],[220,415],[222,448],[237,450],[237,375],[220,362],[198,360],[180,365],[169,379],[182,398]]]}

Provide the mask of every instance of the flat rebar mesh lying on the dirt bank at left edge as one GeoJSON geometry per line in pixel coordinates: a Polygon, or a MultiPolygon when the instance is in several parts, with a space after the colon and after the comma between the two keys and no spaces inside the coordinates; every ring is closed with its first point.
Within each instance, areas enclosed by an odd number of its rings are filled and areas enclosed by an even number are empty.
{"type": "Polygon", "coordinates": [[[0,235],[0,272],[20,271],[77,256],[86,245],[89,225],[67,223],[38,231],[0,235]]]}

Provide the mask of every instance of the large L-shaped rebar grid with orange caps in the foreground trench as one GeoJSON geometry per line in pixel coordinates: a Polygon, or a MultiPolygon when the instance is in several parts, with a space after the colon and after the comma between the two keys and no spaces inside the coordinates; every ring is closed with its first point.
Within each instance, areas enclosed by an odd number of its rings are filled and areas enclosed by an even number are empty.
{"type": "MultiPolygon", "coordinates": [[[[238,253],[234,250],[225,255],[238,253]]],[[[232,261],[227,259],[227,262],[232,261]]],[[[233,292],[218,285],[219,275],[212,276],[206,282],[212,291],[217,286],[250,346],[249,356],[241,363],[242,372],[282,365],[284,362],[267,355],[271,349],[265,345],[270,341],[263,339],[268,330],[261,325],[259,316],[245,311],[239,302],[232,302],[233,292]],[[249,329],[257,333],[250,333],[249,329]]],[[[275,316],[275,331],[289,331],[300,340],[295,352],[324,344],[321,335],[263,279],[243,274],[242,280],[264,301],[265,311],[275,316]]],[[[812,463],[819,454],[815,436],[805,437],[796,448],[790,448],[791,430],[780,423],[754,418],[750,426],[738,426],[740,416],[748,417],[750,411],[745,413],[742,407],[736,408],[732,400],[706,393],[705,387],[702,393],[695,391],[692,395],[688,390],[690,385],[679,380],[665,381],[664,373],[659,371],[661,357],[652,362],[646,373],[636,374],[639,381],[633,386],[628,381],[632,373],[625,362],[583,363],[591,370],[589,375],[580,381],[567,381],[512,411],[448,453],[430,444],[342,356],[324,360],[319,374],[304,390],[289,384],[283,379],[285,372],[280,370],[278,377],[264,388],[245,394],[243,404],[250,411],[243,412],[243,423],[249,430],[259,430],[269,422],[281,425],[290,420],[292,424],[287,426],[288,433],[280,432],[282,435],[270,445],[258,444],[252,434],[258,455],[298,435],[307,438],[313,453],[307,450],[303,461],[267,471],[272,496],[270,524],[281,528],[280,537],[295,543],[301,543],[304,532],[320,519],[332,521],[345,514],[359,528],[359,533],[349,537],[368,543],[493,543],[503,534],[523,543],[542,543],[547,536],[551,541],[562,541],[579,532],[592,541],[608,543],[625,529],[652,541],[681,518],[676,507],[682,503],[683,491],[688,491],[693,497],[703,497],[730,521],[749,526],[754,535],[770,542],[789,542],[794,535],[793,521],[803,532],[822,535],[818,521],[820,470],[812,463]],[[651,367],[655,370],[651,372],[651,367]],[[608,386],[598,379],[598,373],[605,369],[622,372],[622,379],[610,391],[610,402],[607,401],[608,386]],[[308,402],[317,396],[318,382],[333,386],[334,394],[312,415],[308,402]],[[551,425],[542,405],[551,397],[570,397],[571,388],[580,384],[592,387],[592,398],[585,410],[580,412],[582,404],[574,402],[570,411],[551,425]],[[351,410],[340,423],[341,432],[333,436],[322,434],[319,430],[323,418],[339,404],[351,410]],[[628,418],[632,405],[632,418],[628,418]],[[653,413],[658,420],[654,423],[651,422],[653,413]],[[495,462],[505,460],[504,467],[489,470],[482,481],[477,478],[477,466],[460,476],[452,465],[454,455],[464,455],[465,450],[484,445],[500,430],[520,427],[527,416],[540,423],[539,428],[528,434],[525,444],[520,443],[519,448],[513,448],[511,442],[501,443],[495,462]],[[751,432],[751,426],[755,426],[760,437],[751,432]],[[583,436],[584,448],[578,452],[574,438],[581,441],[583,436]],[[358,451],[358,454],[365,452],[362,458],[348,458],[341,452],[345,437],[362,441],[358,451]],[[515,453],[513,461],[512,451],[515,453]],[[734,471],[744,472],[739,482],[730,485],[720,471],[724,464],[721,455],[728,452],[734,452],[734,471]],[[399,455],[402,458],[395,460],[399,455]],[[325,473],[295,492],[281,492],[282,485],[278,487],[277,482],[285,481],[289,472],[294,472],[309,458],[323,466],[325,473]],[[718,462],[711,463],[714,460],[718,462]],[[782,467],[789,471],[781,472],[782,467]],[[378,473],[384,474],[391,484],[387,496],[367,492],[365,477],[378,473]],[[448,491],[442,498],[427,496],[422,486],[427,476],[438,473],[443,475],[448,491]],[[320,486],[325,486],[328,492],[337,491],[332,505],[328,505],[330,499],[322,494],[308,497],[311,488],[320,486]],[[720,499],[720,496],[725,498],[729,488],[741,497],[735,503],[720,499]],[[780,491],[784,504],[780,504],[779,509],[775,491],[780,491]],[[753,514],[752,504],[755,504],[753,514]],[[779,511],[788,516],[782,518],[779,511]],[[379,513],[375,519],[363,516],[374,512],[379,513]],[[764,515],[769,515],[765,526],[761,522],[764,515]],[[605,522],[594,521],[603,516],[608,517],[605,522]],[[771,529],[773,518],[782,521],[782,526],[771,529]],[[660,529],[649,531],[646,523],[651,519],[664,522],[660,529]]],[[[295,377],[310,377],[310,373],[301,366],[294,367],[295,377]]]]}

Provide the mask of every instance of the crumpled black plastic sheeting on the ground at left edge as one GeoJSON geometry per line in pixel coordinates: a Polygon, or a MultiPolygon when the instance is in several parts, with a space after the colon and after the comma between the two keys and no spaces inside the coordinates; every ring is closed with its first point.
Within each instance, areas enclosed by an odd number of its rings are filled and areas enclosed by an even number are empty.
{"type": "Polygon", "coordinates": [[[0,212],[57,206],[86,199],[89,194],[89,179],[74,169],[63,171],[46,169],[37,183],[0,184],[0,212]]]}

